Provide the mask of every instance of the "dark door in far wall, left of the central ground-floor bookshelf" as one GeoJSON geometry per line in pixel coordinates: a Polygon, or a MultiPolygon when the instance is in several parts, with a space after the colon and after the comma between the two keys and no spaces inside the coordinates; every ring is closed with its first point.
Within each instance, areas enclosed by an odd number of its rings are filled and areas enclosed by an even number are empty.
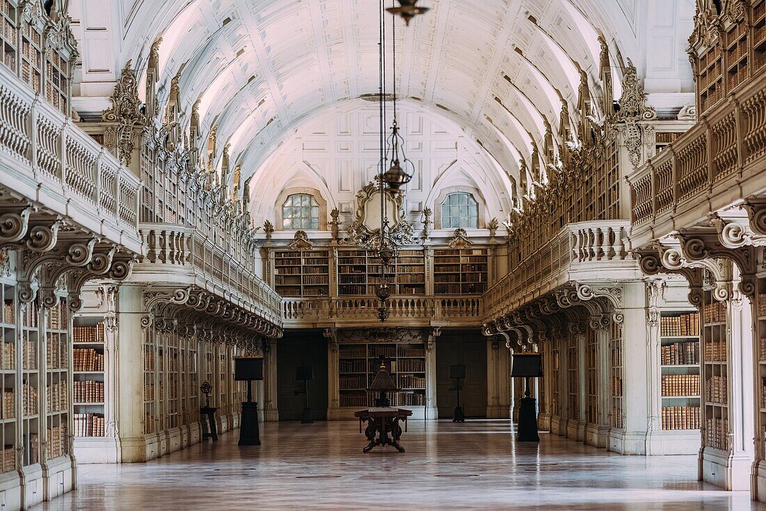
{"type": "Polygon", "coordinates": [[[296,380],[296,369],[311,365],[309,406],[314,420],[327,418],[327,339],[322,332],[286,332],[277,341],[277,406],[280,421],[300,421],[303,414],[303,381],[296,380]]]}

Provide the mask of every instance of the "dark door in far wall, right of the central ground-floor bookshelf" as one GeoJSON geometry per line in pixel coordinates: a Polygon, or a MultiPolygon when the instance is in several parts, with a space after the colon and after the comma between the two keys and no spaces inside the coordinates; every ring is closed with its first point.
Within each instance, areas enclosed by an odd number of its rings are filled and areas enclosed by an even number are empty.
{"type": "Polygon", "coordinates": [[[436,344],[439,418],[451,418],[457,405],[450,365],[465,365],[460,405],[466,417],[486,416],[486,339],[481,334],[442,333],[436,344]]]}

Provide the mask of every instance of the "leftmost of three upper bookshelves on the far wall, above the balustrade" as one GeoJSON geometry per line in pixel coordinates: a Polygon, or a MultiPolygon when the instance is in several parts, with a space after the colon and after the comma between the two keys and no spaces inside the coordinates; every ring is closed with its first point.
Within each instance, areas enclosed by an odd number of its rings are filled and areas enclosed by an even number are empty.
{"type": "Polygon", "coordinates": [[[329,251],[274,252],[274,289],[281,296],[329,296],[329,251]]]}

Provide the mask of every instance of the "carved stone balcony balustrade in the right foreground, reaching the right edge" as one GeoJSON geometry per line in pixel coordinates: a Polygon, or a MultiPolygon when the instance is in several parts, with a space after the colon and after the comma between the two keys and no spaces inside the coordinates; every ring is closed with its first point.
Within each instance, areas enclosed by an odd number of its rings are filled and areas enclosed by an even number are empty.
{"type": "Polygon", "coordinates": [[[766,73],[627,178],[630,242],[642,247],[766,191],[766,73]]]}

